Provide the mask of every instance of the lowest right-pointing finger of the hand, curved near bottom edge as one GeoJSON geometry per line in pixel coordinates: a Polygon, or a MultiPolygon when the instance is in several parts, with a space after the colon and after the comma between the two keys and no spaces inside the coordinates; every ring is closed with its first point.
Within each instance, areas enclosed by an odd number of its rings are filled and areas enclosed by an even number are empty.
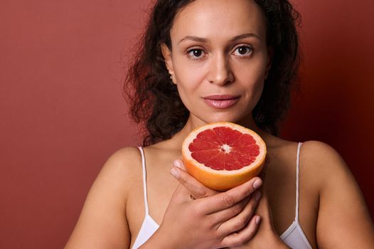
{"type": "Polygon", "coordinates": [[[223,247],[232,247],[247,243],[257,232],[261,218],[253,216],[248,225],[242,230],[230,233],[221,241],[223,247]]]}

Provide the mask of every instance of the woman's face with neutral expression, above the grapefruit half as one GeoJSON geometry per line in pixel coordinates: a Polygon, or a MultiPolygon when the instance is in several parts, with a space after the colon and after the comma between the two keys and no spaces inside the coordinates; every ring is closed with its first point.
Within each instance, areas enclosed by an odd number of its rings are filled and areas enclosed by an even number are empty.
{"type": "Polygon", "coordinates": [[[266,21],[250,0],[197,0],[176,15],[166,65],[195,125],[252,120],[270,56],[266,21]]]}

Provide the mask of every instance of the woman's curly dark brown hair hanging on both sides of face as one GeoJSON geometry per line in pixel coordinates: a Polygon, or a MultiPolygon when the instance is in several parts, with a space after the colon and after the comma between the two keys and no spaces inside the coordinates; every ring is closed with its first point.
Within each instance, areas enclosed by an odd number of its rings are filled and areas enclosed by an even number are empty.
{"type": "MultiPolygon", "coordinates": [[[[161,44],[171,50],[170,30],[178,13],[194,0],[159,0],[134,51],[124,80],[129,115],[143,124],[143,145],[169,139],[183,128],[189,112],[171,83],[161,44]]],[[[290,105],[299,68],[300,15],[287,0],[254,0],[267,20],[267,46],[273,50],[272,68],[259,102],[252,111],[258,127],[278,134],[278,122],[290,105]]]]}

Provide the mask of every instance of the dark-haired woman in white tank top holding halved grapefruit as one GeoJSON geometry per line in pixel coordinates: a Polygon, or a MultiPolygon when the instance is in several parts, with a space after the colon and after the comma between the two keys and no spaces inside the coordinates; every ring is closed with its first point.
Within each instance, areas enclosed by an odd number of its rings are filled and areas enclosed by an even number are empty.
{"type": "Polygon", "coordinates": [[[276,137],[298,65],[296,21],[286,0],[157,1],[125,85],[146,147],[108,159],[66,248],[374,248],[341,157],[276,137]],[[184,171],[183,139],[215,121],[260,134],[266,181],[218,193],[184,171]]]}

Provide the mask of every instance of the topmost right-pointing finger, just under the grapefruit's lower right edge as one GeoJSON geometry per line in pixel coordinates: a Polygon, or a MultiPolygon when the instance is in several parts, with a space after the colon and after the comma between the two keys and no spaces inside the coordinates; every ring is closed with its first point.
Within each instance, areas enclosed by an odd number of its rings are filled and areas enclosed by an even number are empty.
{"type": "Polygon", "coordinates": [[[250,181],[236,186],[233,189],[214,196],[208,196],[204,198],[204,205],[201,207],[203,208],[203,213],[210,214],[230,208],[231,206],[234,206],[236,203],[250,196],[250,194],[255,192],[256,189],[260,188],[261,185],[262,180],[259,177],[254,177],[250,179],[250,181]]]}

